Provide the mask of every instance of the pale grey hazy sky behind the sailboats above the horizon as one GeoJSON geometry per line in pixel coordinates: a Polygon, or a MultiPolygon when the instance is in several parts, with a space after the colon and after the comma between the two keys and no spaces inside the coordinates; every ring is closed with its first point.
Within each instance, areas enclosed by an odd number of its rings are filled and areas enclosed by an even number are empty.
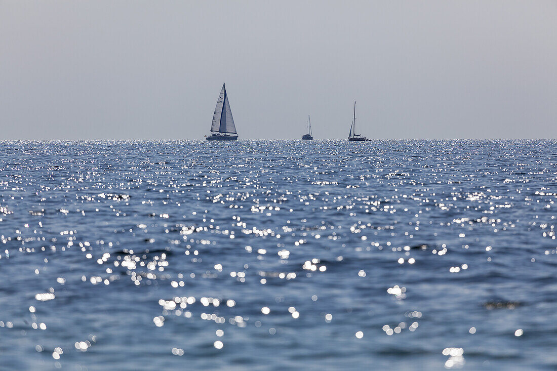
{"type": "Polygon", "coordinates": [[[557,138],[557,1],[0,0],[1,139],[557,138]]]}

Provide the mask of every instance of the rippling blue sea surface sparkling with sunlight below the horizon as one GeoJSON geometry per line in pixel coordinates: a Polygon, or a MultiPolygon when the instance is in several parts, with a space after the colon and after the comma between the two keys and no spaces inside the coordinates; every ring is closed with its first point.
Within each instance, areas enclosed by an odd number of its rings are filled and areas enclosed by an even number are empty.
{"type": "Polygon", "coordinates": [[[0,369],[557,369],[557,141],[0,141],[0,369]]]}

